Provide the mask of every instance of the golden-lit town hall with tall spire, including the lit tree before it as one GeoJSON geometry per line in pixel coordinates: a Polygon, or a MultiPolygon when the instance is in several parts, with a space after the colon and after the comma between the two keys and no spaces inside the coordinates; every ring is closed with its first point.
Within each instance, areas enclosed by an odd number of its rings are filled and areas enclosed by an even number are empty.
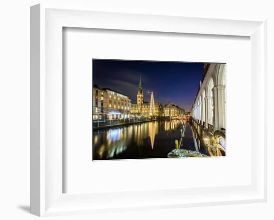
{"type": "Polygon", "coordinates": [[[151,92],[150,103],[144,102],[143,92],[141,85],[141,77],[138,85],[137,91],[137,104],[132,104],[131,108],[132,115],[142,115],[142,116],[163,116],[163,106],[158,102],[154,102],[153,92],[151,92]]]}

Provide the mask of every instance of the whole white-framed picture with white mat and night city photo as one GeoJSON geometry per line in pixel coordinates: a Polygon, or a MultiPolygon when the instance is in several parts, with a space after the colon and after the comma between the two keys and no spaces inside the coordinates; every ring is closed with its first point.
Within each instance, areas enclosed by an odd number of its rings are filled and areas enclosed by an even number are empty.
{"type": "Polygon", "coordinates": [[[266,31],[32,6],[31,213],[265,202],[266,31]]]}

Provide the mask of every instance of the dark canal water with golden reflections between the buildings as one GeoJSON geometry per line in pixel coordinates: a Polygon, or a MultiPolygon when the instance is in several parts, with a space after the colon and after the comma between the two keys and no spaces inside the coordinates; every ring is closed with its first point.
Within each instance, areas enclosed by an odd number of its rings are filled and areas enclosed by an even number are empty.
{"type": "Polygon", "coordinates": [[[186,127],[181,149],[199,151],[187,121],[149,121],[93,132],[93,160],[166,158],[180,140],[186,127]],[[196,147],[195,147],[196,146],[196,147]]]}

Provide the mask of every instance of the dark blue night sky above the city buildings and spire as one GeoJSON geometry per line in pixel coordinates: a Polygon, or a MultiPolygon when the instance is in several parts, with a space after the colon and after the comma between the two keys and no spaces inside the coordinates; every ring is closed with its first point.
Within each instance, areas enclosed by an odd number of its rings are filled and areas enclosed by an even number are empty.
{"type": "Polygon", "coordinates": [[[154,102],[163,106],[174,103],[189,111],[203,77],[203,66],[203,63],[93,60],[93,83],[124,93],[136,104],[141,75],[144,101],[149,102],[153,92],[154,102]]]}

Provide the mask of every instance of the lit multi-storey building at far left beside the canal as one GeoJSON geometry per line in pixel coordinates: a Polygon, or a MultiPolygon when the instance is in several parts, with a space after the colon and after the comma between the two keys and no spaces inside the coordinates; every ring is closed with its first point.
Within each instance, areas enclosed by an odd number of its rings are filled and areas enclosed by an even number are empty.
{"type": "Polygon", "coordinates": [[[110,88],[93,87],[93,119],[129,118],[131,99],[110,88]]]}

